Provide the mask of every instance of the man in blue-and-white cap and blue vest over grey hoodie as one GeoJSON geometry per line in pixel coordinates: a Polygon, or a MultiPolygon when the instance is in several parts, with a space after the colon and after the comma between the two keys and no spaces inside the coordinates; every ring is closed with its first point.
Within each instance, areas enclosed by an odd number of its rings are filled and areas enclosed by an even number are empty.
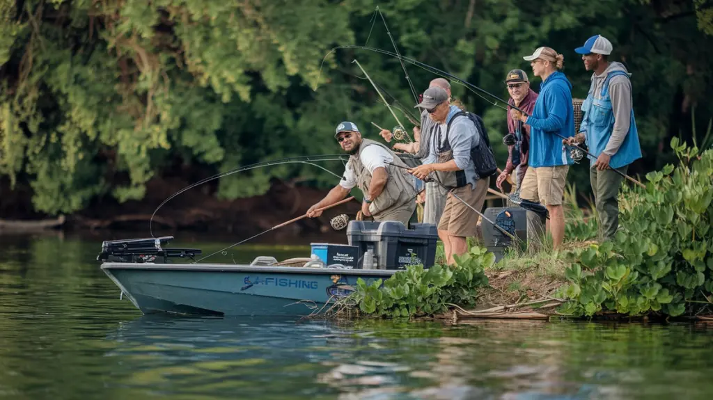
{"type": "Polygon", "coordinates": [[[622,63],[610,62],[612,43],[604,36],[588,38],[575,52],[582,55],[586,70],[593,71],[589,94],[582,103],[580,133],[568,144],[587,142],[590,183],[599,214],[600,239],[614,237],[619,226],[617,195],[629,164],[641,158],[639,133],[632,107],[630,73],[622,63]]]}

